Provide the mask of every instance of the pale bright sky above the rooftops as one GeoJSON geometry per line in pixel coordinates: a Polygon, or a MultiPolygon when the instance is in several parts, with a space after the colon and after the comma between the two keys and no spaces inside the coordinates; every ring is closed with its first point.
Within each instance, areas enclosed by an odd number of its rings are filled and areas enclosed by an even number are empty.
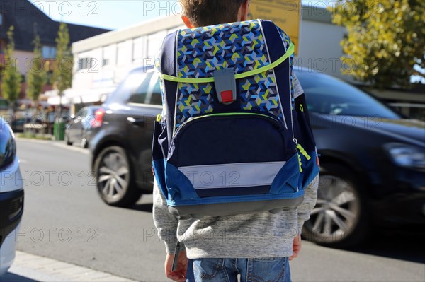
{"type": "MultiPolygon", "coordinates": [[[[223,0],[225,1],[225,0],[223,0]]],[[[171,13],[181,14],[177,0],[30,0],[54,20],[99,28],[117,29],[171,13]]],[[[302,0],[302,4],[324,7],[336,1],[302,0]]]]}

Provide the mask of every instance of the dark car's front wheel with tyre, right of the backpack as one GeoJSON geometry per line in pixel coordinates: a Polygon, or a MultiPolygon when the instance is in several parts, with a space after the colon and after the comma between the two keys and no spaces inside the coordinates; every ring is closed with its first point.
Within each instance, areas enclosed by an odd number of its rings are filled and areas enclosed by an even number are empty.
{"type": "Polygon", "coordinates": [[[328,247],[352,247],[367,235],[365,193],[353,172],[324,163],[320,169],[317,204],[305,222],[303,236],[328,247]]]}

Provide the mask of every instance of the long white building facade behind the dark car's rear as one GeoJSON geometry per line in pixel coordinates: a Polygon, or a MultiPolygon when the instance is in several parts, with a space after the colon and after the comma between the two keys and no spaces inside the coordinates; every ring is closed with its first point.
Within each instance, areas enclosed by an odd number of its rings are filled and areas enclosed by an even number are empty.
{"type": "Polygon", "coordinates": [[[181,26],[179,17],[169,16],[75,42],[72,88],[65,90],[65,103],[78,109],[103,102],[132,69],[152,65],[165,35],[181,26]]]}

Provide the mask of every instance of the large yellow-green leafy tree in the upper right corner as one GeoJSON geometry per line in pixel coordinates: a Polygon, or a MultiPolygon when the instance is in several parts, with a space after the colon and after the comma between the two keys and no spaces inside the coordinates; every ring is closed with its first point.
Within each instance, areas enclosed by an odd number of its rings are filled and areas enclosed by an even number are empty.
{"type": "Polygon", "coordinates": [[[344,74],[378,88],[425,77],[425,1],[339,0],[332,10],[333,22],[348,31],[344,74]]]}

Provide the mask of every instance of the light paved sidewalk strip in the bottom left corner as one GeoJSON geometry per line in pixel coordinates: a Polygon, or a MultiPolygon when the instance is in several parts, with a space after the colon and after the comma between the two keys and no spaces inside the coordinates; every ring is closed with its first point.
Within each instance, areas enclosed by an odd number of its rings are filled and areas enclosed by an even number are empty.
{"type": "Polygon", "coordinates": [[[58,262],[55,259],[39,257],[25,252],[16,252],[16,259],[11,269],[1,282],[59,282],[59,281],[96,281],[96,282],[134,282],[132,280],[113,276],[101,271],[87,269],[74,264],[58,262]]]}

